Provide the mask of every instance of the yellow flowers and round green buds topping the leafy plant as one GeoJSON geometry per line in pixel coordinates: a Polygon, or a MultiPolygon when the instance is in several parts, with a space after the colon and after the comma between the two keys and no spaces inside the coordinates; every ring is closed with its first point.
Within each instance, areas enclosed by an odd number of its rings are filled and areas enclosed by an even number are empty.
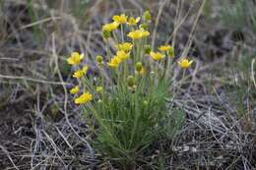
{"type": "MultiPolygon", "coordinates": [[[[146,76],[147,73],[150,73],[151,71],[158,71],[157,67],[160,63],[172,63],[166,62],[166,60],[171,60],[174,57],[173,46],[165,44],[158,47],[157,50],[153,50],[154,47],[146,43],[151,34],[148,29],[148,25],[151,23],[151,20],[152,17],[149,11],[144,13],[143,18],[128,17],[125,14],[113,16],[111,23],[102,26],[102,37],[106,40],[106,42],[109,38],[114,40],[116,52],[112,56],[110,56],[110,53],[107,53],[108,55],[104,57],[97,55],[97,67],[101,69],[103,68],[104,70],[109,68],[109,72],[111,72],[111,69],[113,69],[115,71],[114,73],[116,73],[118,77],[122,78],[118,78],[117,81],[127,82],[128,86],[134,87],[136,84],[138,84],[136,82],[140,80],[138,77],[146,76]],[[124,29],[124,27],[126,28],[124,29]],[[125,30],[128,30],[128,32],[125,32],[125,30]],[[122,34],[121,38],[120,34],[122,34]],[[147,59],[149,57],[152,59],[152,61],[147,59]],[[106,64],[104,60],[107,60],[106,64]],[[124,63],[123,67],[120,66],[122,63],[124,63]]],[[[79,54],[78,52],[73,52],[67,59],[68,64],[76,67],[73,78],[82,82],[82,85],[83,83],[89,81],[86,79],[89,67],[79,67],[79,64],[82,63],[83,59],[84,54],[79,54]]],[[[188,69],[193,61],[189,61],[188,59],[183,58],[177,63],[180,68],[188,69]]],[[[164,69],[168,67],[166,64],[164,66],[164,69]]],[[[116,82],[114,77],[110,76],[110,79],[113,79],[113,82],[116,82]]],[[[103,77],[100,82],[98,82],[96,87],[94,87],[94,85],[90,85],[83,86],[83,89],[87,90],[84,90],[83,92],[81,91],[82,94],[75,98],[76,104],[87,103],[93,100],[94,93],[97,93],[97,95],[102,93],[104,89],[103,77]],[[92,91],[92,89],[95,89],[95,91],[92,91]]],[[[79,92],[79,85],[75,85],[70,89],[71,94],[77,95],[79,92]]],[[[98,98],[98,100],[101,101],[100,98],[98,98]]]]}

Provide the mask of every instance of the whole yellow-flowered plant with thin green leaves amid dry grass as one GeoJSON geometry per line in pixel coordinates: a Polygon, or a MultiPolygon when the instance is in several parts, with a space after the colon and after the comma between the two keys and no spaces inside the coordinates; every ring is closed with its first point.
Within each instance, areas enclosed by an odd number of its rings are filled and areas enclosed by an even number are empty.
{"type": "MultiPolygon", "coordinates": [[[[169,111],[165,99],[171,97],[167,71],[175,64],[174,49],[169,44],[156,50],[149,45],[148,11],[142,18],[121,14],[112,20],[102,26],[107,54],[95,57],[96,81],[87,76],[90,66],[80,63],[86,56],[75,52],[67,59],[77,68],[73,77],[78,85],[70,93],[83,108],[95,148],[120,169],[133,169],[166,129],[169,111]],[[115,42],[114,54],[110,39],[115,42]]],[[[178,63],[181,69],[191,64],[187,59],[178,63]]]]}

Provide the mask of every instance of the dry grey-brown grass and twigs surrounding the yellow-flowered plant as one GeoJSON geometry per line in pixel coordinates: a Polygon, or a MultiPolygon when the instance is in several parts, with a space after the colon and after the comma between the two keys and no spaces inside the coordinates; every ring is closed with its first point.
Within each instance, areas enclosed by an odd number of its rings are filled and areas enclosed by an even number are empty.
{"type": "Polygon", "coordinates": [[[80,108],[64,92],[71,85],[63,82],[72,83],[65,59],[74,50],[101,53],[101,25],[145,9],[159,44],[170,42],[178,11],[179,56],[202,3],[191,83],[169,101],[185,110],[184,124],[138,169],[256,169],[254,0],[1,0],[0,169],[113,169],[99,161],[80,108]]]}

